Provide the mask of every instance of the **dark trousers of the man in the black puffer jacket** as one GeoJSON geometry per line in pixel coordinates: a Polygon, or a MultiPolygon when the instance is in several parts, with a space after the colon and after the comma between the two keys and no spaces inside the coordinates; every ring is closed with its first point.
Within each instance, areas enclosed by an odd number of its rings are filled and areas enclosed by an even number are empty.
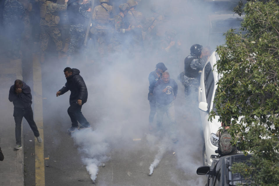
{"type": "Polygon", "coordinates": [[[71,118],[72,127],[78,127],[78,122],[83,126],[89,125],[88,121],[81,113],[81,107],[82,105],[78,105],[78,103],[72,103],[68,108],[68,114],[71,118]]]}

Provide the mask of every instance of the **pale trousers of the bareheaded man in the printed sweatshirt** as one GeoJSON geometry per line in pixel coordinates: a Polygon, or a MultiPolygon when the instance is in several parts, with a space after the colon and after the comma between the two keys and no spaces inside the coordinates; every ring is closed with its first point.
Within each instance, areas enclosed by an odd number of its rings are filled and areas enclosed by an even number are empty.
{"type": "Polygon", "coordinates": [[[167,131],[170,133],[170,137],[176,137],[176,120],[175,120],[175,109],[174,102],[171,102],[168,105],[160,105],[158,102],[156,103],[156,112],[157,112],[157,127],[162,127],[162,122],[164,118],[164,114],[167,114],[169,118],[169,128],[167,131]]]}

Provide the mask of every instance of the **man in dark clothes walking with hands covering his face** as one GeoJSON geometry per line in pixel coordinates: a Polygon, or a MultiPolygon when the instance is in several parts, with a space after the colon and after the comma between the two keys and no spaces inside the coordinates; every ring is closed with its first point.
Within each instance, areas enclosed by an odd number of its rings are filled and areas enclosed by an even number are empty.
{"type": "Polygon", "coordinates": [[[24,117],[31,127],[35,137],[39,143],[42,143],[42,138],[33,119],[33,110],[31,108],[32,95],[31,89],[26,83],[17,79],[15,84],[11,86],[9,92],[9,100],[14,104],[15,117],[15,140],[16,146],[14,149],[21,149],[21,123],[24,117]]]}

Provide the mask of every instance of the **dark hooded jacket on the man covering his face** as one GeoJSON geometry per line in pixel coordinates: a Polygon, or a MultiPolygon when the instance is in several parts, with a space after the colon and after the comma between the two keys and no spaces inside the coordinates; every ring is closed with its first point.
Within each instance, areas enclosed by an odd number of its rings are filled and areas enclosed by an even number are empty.
{"type": "Polygon", "coordinates": [[[16,108],[28,108],[32,104],[31,89],[26,83],[23,83],[22,92],[17,95],[15,93],[15,85],[12,85],[9,92],[9,100],[16,108]]]}

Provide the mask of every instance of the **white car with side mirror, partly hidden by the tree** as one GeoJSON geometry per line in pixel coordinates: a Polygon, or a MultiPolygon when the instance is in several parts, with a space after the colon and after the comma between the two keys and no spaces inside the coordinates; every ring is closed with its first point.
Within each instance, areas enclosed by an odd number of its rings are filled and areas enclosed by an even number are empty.
{"type": "Polygon", "coordinates": [[[221,122],[218,122],[219,116],[216,115],[212,122],[208,121],[209,112],[215,109],[213,100],[217,88],[219,76],[217,69],[214,68],[219,56],[213,52],[205,63],[201,74],[201,82],[198,88],[198,108],[200,110],[201,121],[203,126],[203,164],[204,166],[211,166],[212,161],[218,155],[215,150],[218,148],[219,138],[215,135],[217,130],[221,127],[221,122]]]}

